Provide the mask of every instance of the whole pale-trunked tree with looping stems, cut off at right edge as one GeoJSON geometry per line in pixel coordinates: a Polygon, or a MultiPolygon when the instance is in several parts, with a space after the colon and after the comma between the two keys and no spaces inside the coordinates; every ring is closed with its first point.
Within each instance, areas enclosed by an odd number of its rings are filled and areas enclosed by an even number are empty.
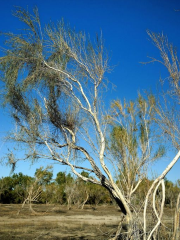
{"type": "MultiPolygon", "coordinates": [[[[157,237],[157,232],[159,229],[159,226],[161,224],[162,216],[163,216],[163,209],[165,204],[165,182],[164,178],[167,175],[167,173],[172,169],[172,167],[176,164],[180,157],[180,126],[179,126],[179,97],[180,97],[180,88],[179,88],[179,59],[177,56],[177,51],[173,47],[172,44],[168,42],[167,37],[164,37],[163,34],[156,34],[153,32],[148,31],[148,35],[153,41],[153,44],[158,48],[161,56],[161,60],[157,60],[156,58],[151,58],[151,62],[159,62],[163,64],[166,69],[168,70],[169,77],[167,78],[167,91],[162,91],[161,95],[156,98],[155,101],[152,101],[152,108],[155,111],[155,115],[153,117],[153,120],[157,123],[158,127],[162,130],[162,134],[168,139],[170,143],[173,144],[175,149],[178,151],[174,159],[170,162],[170,164],[166,167],[166,169],[160,174],[159,177],[157,177],[154,182],[152,183],[150,189],[148,190],[148,193],[146,195],[145,199],[145,207],[144,207],[144,232],[147,232],[146,227],[146,220],[147,220],[147,206],[149,197],[153,195],[153,211],[157,218],[157,222],[154,226],[154,228],[150,231],[148,236],[144,235],[145,239],[151,239],[157,237]],[[155,207],[156,202],[156,193],[161,186],[162,188],[162,199],[161,199],[161,206],[159,209],[159,213],[155,207]]],[[[163,83],[163,81],[161,81],[163,83]]],[[[162,84],[163,86],[163,84],[162,84]]],[[[149,95],[150,99],[155,99],[154,96],[149,95]]],[[[177,205],[179,204],[179,197],[177,198],[177,205]]],[[[178,207],[176,207],[176,210],[178,207]]],[[[177,217],[178,214],[176,212],[175,216],[177,217]]],[[[177,221],[176,221],[177,223],[177,221]]],[[[174,235],[173,238],[178,236],[176,234],[177,231],[177,225],[174,229],[174,235]]],[[[178,239],[178,237],[176,238],[178,239]]]]}

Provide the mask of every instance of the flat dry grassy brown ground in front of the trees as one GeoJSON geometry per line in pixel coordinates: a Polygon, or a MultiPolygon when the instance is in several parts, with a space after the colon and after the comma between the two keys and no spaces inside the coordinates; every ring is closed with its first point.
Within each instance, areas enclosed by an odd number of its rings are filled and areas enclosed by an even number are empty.
{"type": "MultiPolygon", "coordinates": [[[[61,205],[0,204],[0,240],[106,240],[115,233],[121,212],[115,206],[85,206],[83,210],[61,205]]],[[[172,218],[165,222],[172,225],[172,218]]]]}

